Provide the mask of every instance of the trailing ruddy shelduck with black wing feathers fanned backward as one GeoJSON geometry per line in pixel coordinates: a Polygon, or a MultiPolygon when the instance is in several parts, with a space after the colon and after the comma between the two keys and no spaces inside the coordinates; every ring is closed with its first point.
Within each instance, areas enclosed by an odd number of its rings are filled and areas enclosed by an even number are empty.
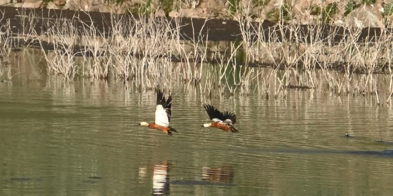
{"type": "Polygon", "coordinates": [[[213,127],[222,129],[224,131],[232,131],[239,132],[233,127],[233,124],[236,123],[236,114],[225,111],[224,113],[220,112],[217,109],[214,109],[213,106],[205,104],[203,106],[206,109],[206,112],[209,115],[210,120],[213,120],[213,123],[203,124],[202,127],[213,127]]]}

